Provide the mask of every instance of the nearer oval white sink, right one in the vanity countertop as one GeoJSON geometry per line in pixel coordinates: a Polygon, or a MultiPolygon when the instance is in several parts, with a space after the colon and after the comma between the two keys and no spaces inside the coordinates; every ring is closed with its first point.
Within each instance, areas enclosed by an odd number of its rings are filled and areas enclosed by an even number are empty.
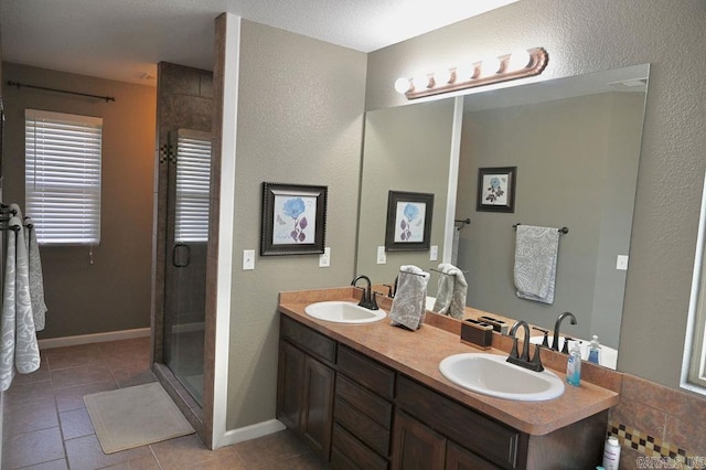
{"type": "Polygon", "coordinates": [[[555,373],[530,371],[505,360],[496,354],[454,354],[439,363],[439,372],[460,387],[498,398],[541,402],[564,394],[564,381],[555,373]]]}

